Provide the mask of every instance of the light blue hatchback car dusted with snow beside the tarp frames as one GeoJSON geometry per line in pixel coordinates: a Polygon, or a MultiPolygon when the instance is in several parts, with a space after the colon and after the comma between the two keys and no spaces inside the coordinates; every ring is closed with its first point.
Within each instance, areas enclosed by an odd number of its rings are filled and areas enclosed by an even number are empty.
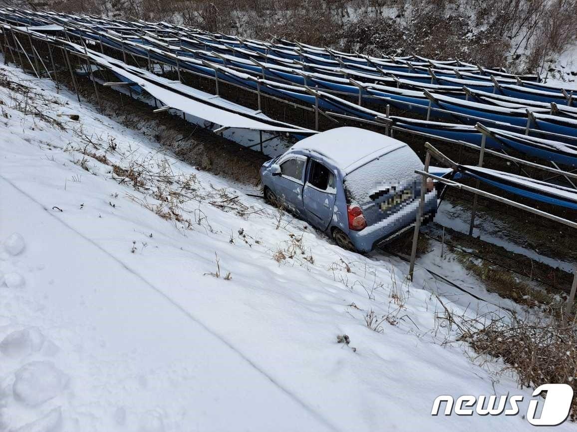
{"type": "MultiPolygon", "coordinates": [[[[339,127],[297,142],[260,170],[265,198],[323,230],[345,249],[369,252],[414,226],[423,169],[404,142],[339,127]]],[[[437,210],[427,181],[425,219],[437,210]]]]}

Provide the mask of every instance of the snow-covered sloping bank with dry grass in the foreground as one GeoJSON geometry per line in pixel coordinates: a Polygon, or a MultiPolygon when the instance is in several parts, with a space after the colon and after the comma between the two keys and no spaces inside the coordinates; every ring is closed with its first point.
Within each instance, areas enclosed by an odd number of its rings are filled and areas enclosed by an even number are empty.
{"type": "Polygon", "coordinates": [[[0,68],[30,88],[0,88],[0,430],[533,427],[530,389],[444,343],[437,295],[457,314],[521,312],[450,254],[425,262],[489,302],[420,267],[409,283],[404,262],[343,251],[0,68]],[[439,395],[493,393],[524,395],[520,414],[430,415],[439,395]]]}

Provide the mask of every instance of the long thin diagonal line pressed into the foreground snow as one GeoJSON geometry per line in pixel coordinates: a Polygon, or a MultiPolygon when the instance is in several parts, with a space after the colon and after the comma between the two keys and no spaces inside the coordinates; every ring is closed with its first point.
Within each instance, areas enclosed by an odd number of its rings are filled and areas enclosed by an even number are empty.
{"type": "Polygon", "coordinates": [[[247,357],[245,354],[242,353],[242,351],[240,351],[237,347],[234,346],[233,343],[231,343],[230,341],[228,341],[226,338],[224,338],[222,335],[219,335],[218,333],[216,333],[215,331],[213,331],[211,328],[209,328],[206,324],[204,324],[202,321],[198,320],[192,313],[190,313],[188,310],[186,310],[185,308],[183,308],[183,306],[181,306],[180,304],[178,304],[178,302],[174,301],[172,298],[170,298],[167,294],[165,294],[162,290],[160,290],[158,287],[156,287],[155,285],[153,285],[151,282],[149,282],[146,278],[144,278],[144,276],[140,275],[138,272],[132,270],[132,268],[128,267],[125,263],[123,263],[121,260],[119,260],[117,257],[115,257],[114,255],[112,255],[110,252],[108,252],[106,249],[104,249],[102,246],[100,246],[98,243],[96,243],[95,241],[93,241],[91,238],[85,236],[84,234],[78,232],[76,229],[74,229],[72,226],[68,225],[68,223],[66,223],[65,221],[63,221],[61,218],[57,217],[56,214],[51,213],[50,210],[47,209],[46,206],[44,206],[44,204],[38,202],[38,200],[36,200],[35,198],[33,198],[31,195],[29,195],[27,192],[21,190],[19,187],[17,187],[14,183],[12,183],[12,181],[6,179],[6,177],[3,177],[0,175],[0,179],[2,179],[3,181],[5,181],[5,183],[9,184],[10,186],[12,186],[14,188],[14,190],[20,192],[20,194],[26,196],[29,200],[31,200],[33,203],[37,204],[38,206],[42,207],[42,209],[44,211],[46,211],[46,213],[48,215],[50,215],[51,217],[53,217],[54,219],[56,219],[58,222],[62,223],[62,225],[66,226],[66,228],[68,228],[69,230],[71,230],[72,232],[76,233],[78,236],[80,236],[81,238],[83,238],[85,241],[88,241],[90,244],[92,244],[94,247],[98,248],[101,252],[103,252],[104,254],[106,254],[108,257],[110,257],[111,259],[113,259],[115,262],[117,262],[119,264],[119,266],[121,266],[122,268],[124,268],[126,271],[130,272],[130,274],[132,274],[133,276],[135,276],[137,279],[140,279],[140,281],[142,281],[143,283],[145,283],[145,285],[147,285],[149,288],[151,288],[152,290],[156,291],[156,293],[162,295],[162,297],[168,301],[171,305],[173,305],[175,308],[177,308],[178,310],[181,311],[181,313],[185,314],[185,316],[187,316],[190,320],[194,321],[194,323],[196,323],[197,325],[199,325],[201,328],[203,328],[205,331],[207,331],[209,334],[211,334],[213,337],[217,338],[218,340],[220,340],[220,342],[222,342],[224,345],[226,345],[231,351],[234,351],[234,353],[236,353],[239,357],[241,357],[243,359],[243,361],[245,361],[246,363],[248,363],[248,365],[250,367],[252,367],[254,370],[256,370],[258,373],[260,373],[261,375],[263,375],[265,378],[267,378],[274,386],[276,386],[276,388],[278,388],[280,391],[282,391],[285,395],[287,395],[291,400],[293,400],[295,403],[297,403],[299,406],[301,406],[306,412],[308,412],[310,415],[313,416],[314,419],[318,420],[320,423],[322,423],[324,426],[326,426],[328,429],[333,430],[333,431],[339,431],[340,429],[338,427],[336,427],[335,425],[333,425],[331,422],[329,422],[328,419],[324,418],[323,415],[321,415],[319,412],[314,411],[310,406],[308,406],[304,401],[302,401],[301,399],[299,399],[299,397],[297,395],[295,395],[293,392],[291,392],[288,388],[286,388],[285,386],[283,386],[282,384],[280,384],[280,382],[278,382],[274,377],[272,377],[270,374],[268,374],[267,372],[265,372],[264,369],[262,369],[260,366],[258,366],[256,363],[254,363],[249,357],[247,357]]]}

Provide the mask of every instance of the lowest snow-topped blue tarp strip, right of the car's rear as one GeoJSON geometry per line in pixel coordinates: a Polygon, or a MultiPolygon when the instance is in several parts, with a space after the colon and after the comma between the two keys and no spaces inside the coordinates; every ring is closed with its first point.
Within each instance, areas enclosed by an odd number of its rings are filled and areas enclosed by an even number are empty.
{"type": "Polygon", "coordinates": [[[577,191],[574,189],[478,166],[459,165],[459,170],[512,194],[577,210],[577,191]]]}

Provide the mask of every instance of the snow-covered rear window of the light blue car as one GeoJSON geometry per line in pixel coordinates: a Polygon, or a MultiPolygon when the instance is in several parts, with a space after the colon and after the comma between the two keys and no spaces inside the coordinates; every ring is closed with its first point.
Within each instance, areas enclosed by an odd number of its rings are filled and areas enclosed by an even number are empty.
{"type": "Polygon", "coordinates": [[[405,187],[419,180],[415,169],[423,164],[409,146],[391,151],[380,158],[355,169],[344,178],[347,202],[364,204],[371,196],[390,187],[405,187]]]}

